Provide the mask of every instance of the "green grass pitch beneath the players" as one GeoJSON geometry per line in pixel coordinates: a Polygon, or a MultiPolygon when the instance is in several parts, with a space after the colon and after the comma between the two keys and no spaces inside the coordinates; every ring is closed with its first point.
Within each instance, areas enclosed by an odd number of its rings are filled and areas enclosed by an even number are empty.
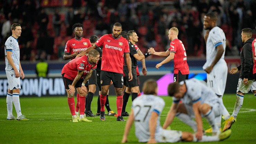
{"type": "MultiPolygon", "coordinates": [[[[131,96],[130,96],[131,97],[131,96]]],[[[94,114],[97,111],[97,98],[93,97],[91,109],[94,114]]],[[[162,97],[165,100],[165,108],[161,116],[161,125],[164,124],[166,115],[172,104],[171,97],[162,97]]],[[[109,96],[110,108],[117,112],[116,96],[109,96]]],[[[76,102],[76,98],[75,98],[76,102]]],[[[231,113],[236,102],[235,94],[225,94],[223,102],[231,113]]],[[[126,122],[116,121],[115,116],[106,116],[102,122],[99,116],[87,117],[92,122],[70,122],[72,116],[67,104],[67,97],[29,97],[20,98],[21,112],[29,121],[7,121],[6,98],[0,98],[0,144],[19,143],[86,143],[86,144],[118,144],[122,140],[126,122]]],[[[130,112],[131,98],[127,103],[126,111],[130,112]]],[[[221,144],[247,144],[256,143],[256,97],[250,93],[244,97],[243,107],[238,113],[237,122],[232,125],[231,136],[223,142],[207,142],[221,144]]],[[[16,116],[13,105],[13,115],[16,116]]],[[[107,113],[107,111],[106,111],[107,113]]],[[[124,117],[125,120],[128,117],[124,117]]],[[[223,120],[222,120],[223,122],[223,120]]],[[[203,119],[205,130],[209,128],[208,122],[203,119]]],[[[223,125],[222,125],[223,127],[223,125]]],[[[171,124],[172,130],[192,132],[192,128],[175,117],[171,124]]],[[[132,126],[128,143],[136,144],[138,139],[132,126]]],[[[188,143],[188,142],[184,142],[188,143]]],[[[193,142],[190,142],[193,143],[193,142]]]]}

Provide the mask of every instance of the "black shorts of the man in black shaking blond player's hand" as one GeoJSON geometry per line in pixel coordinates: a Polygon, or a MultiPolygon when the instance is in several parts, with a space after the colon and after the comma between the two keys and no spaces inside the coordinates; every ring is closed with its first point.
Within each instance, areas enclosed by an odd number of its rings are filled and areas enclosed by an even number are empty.
{"type": "Polygon", "coordinates": [[[128,88],[133,88],[135,86],[138,86],[138,77],[137,77],[137,70],[136,68],[131,68],[131,74],[132,74],[132,80],[129,81],[129,76],[128,76],[128,67],[124,67],[124,72],[125,72],[125,79],[126,79],[126,86],[128,88]]]}

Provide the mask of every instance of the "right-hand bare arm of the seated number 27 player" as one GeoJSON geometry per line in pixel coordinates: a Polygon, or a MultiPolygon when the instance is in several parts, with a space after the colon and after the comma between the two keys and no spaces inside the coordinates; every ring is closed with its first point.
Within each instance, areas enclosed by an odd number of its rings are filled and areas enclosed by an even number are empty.
{"type": "Polygon", "coordinates": [[[157,143],[155,140],[155,133],[156,133],[156,124],[157,124],[157,117],[158,114],[156,112],[152,112],[151,116],[149,118],[149,140],[148,140],[148,144],[155,144],[157,143]]]}

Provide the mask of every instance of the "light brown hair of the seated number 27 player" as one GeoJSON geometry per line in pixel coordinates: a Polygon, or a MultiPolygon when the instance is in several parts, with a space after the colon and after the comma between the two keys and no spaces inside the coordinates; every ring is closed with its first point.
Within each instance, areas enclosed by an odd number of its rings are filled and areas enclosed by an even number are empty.
{"type": "Polygon", "coordinates": [[[143,92],[144,94],[156,94],[156,88],[157,88],[157,83],[153,79],[148,79],[147,81],[144,82],[143,84],[143,92]]]}

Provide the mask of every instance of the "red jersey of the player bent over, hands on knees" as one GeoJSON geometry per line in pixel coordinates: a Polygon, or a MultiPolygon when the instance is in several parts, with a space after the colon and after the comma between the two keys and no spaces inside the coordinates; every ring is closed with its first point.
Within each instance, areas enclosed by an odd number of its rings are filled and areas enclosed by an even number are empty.
{"type": "Polygon", "coordinates": [[[89,73],[89,71],[92,69],[97,68],[97,63],[90,63],[88,59],[88,55],[83,55],[79,58],[73,59],[67,64],[64,65],[61,74],[64,74],[65,78],[68,78],[70,80],[74,80],[77,71],[84,71],[83,75],[80,79],[82,79],[86,74],[89,73]]]}

